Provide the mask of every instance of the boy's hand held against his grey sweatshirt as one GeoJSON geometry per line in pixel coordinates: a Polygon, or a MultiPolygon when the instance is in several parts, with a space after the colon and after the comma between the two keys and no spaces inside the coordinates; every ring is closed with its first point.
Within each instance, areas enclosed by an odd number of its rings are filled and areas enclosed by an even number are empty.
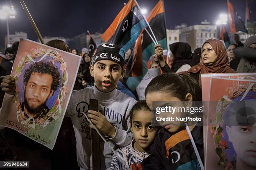
{"type": "MultiPolygon", "coordinates": [[[[107,135],[109,138],[114,137],[115,128],[104,115],[93,110],[88,110],[88,113],[88,117],[90,117],[92,123],[99,129],[100,133],[107,135]]],[[[92,125],[90,125],[90,128],[92,128],[92,125]]]]}

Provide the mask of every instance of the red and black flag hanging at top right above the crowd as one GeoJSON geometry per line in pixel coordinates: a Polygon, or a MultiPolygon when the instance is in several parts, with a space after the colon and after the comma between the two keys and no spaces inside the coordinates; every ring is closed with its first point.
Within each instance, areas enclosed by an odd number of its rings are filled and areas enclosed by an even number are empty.
{"type": "Polygon", "coordinates": [[[229,0],[228,0],[228,19],[229,19],[231,33],[242,31],[248,34],[248,30],[246,29],[246,26],[244,25],[241,17],[238,15],[232,3],[229,0]]]}

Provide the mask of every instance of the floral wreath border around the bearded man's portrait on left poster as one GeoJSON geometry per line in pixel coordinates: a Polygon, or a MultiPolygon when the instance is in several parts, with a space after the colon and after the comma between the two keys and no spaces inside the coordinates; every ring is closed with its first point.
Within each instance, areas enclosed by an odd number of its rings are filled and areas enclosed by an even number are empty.
{"type": "Polygon", "coordinates": [[[49,125],[50,122],[54,122],[55,120],[58,120],[61,117],[61,103],[64,100],[64,97],[67,93],[67,82],[68,82],[68,72],[67,72],[67,63],[64,62],[63,58],[61,57],[61,54],[55,50],[52,49],[43,49],[42,46],[38,46],[37,48],[31,49],[31,51],[23,57],[14,74],[14,80],[15,82],[18,81],[18,77],[21,74],[21,70],[30,62],[35,62],[34,59],[39,58],[37,62],[41,60],[51,60],[51,62],[54,64],[54,62],[60,63],[60,70],[62,72],[62,78],[61,78],[61,88],[59,90],[58,98],[55,102],[55,105],[51,107],[49,112],[44,117],[33,119],[33,123],[29,122],[31,119],[27,119],[24,115],[24,112],[21,109],[20,102],[18,100],[18,86],[16,86],[16,92],[14,101],[17,104],[17,119],[20,123],[23,123],[25,127],[27,128],[33,128],[34,130],[42,130],[47,125],[49,125]],[[51,59],[46,59],[45,57],[51,57],[51,59]],[[25,123],[24,123],[25,122],[25,123]]]}

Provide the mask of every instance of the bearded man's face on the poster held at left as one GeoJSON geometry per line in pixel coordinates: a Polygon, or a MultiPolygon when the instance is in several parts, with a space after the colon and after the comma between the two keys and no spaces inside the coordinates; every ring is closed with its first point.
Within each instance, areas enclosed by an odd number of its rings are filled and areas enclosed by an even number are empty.
{"type": "Polygon", "coordinates": [[[46,105],[46,101],[53,94],[51,83],[53,77],[50,74],[32,72],[25,87],[25,107],[31,114],[39,114],[46,105]]]}

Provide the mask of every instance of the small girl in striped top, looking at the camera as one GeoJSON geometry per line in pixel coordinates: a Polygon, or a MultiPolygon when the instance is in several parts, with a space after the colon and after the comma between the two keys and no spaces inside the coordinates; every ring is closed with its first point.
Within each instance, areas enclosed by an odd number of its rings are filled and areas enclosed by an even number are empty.
{"type": "Polygon", "coordinates": [[[111,170],[126,170],[127,166],[141,167],[141,163],[149,155],[150,145],[154,142],[158,128],[151,125],[152,113],[146,100],[140,100],[132,107],[130,119],[134,138],[130,145],[116,150],[111,162],[111,170]]]}

